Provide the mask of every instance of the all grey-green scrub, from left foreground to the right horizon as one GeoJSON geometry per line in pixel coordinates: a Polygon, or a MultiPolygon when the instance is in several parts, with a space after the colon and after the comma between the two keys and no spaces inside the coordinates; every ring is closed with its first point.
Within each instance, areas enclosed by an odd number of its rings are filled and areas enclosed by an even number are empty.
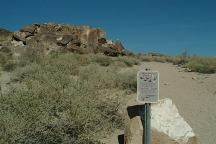
{"type": "Polygon", "coordinates": [[[122,67],[141,61],[172,62],[200,73],[215,73],[216,58],[160,55],[108,57],[27,49],[13,58],[0,52],[0,66],[13,71],[8,92],[0,92],[0,143],[100,144],[123,125],[122,94],[136,92],[136,72],[122,67]],[[107,92],[109,91],[109,92],[107,92]]]}

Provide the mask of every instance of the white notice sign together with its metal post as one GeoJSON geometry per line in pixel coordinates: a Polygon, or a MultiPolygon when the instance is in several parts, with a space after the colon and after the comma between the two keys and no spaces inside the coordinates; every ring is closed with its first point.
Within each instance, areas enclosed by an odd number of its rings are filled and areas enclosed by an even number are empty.
{"type": "Polygon", "coordinates": [[[137,101],[141,104],[143,144],[151,144],[151,103],[159,99],[159,73],[146,68],[137,73],[137,101]]]}

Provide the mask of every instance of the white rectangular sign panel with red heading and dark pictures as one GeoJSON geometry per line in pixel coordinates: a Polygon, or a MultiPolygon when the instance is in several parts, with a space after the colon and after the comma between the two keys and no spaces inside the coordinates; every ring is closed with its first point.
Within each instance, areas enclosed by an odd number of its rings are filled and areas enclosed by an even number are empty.
{"type": "Polygon", "coordinates": [[[159,99],[159,73],[141,70],[137,73],[137,101],[157,103],[159,99]]]}

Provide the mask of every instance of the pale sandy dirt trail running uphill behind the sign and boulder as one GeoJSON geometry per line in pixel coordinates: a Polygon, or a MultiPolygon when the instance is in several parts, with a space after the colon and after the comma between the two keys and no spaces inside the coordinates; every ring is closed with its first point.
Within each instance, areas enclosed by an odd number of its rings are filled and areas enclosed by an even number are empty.
{"type": "MultiPolygon", "coordinates": [[[[216,142],[216,74],[184,72],[183,69],[168,63],[145,62],[140,66],[123,69],[138,71],[145,67],[160,73],[160,99],[171,98],[179,113],[193,128],[201,144],[216,142]]],[[[136,94],[128,100],[135,102],[136,94]]],[[[116,131],[107,144],[118,143],[116,131]]]]}

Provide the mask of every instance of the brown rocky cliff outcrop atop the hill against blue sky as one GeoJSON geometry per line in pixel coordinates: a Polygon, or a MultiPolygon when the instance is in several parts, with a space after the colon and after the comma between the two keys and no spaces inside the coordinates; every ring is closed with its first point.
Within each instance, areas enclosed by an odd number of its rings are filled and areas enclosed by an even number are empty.
{"type": "Polygon", "coordinates": [[[50,52],[104,53],[108,56],[127,55],[121,42],[106,39],[104,31],[87,26],[61,24],[34,24],[18,32],[0,31],[0,40],[7,35],[7,41],[14,46],[26,46],[50,52]]]}

